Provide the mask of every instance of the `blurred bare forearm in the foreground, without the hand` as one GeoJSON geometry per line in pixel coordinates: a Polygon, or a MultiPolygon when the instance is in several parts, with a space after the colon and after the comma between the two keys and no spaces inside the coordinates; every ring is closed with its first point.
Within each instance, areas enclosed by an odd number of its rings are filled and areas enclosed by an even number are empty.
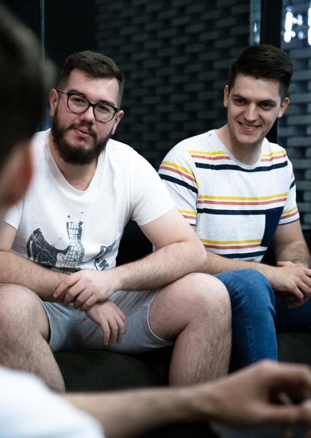
{"type": "MultiPolygon", "coordinates": [[[[175,421],[206,419],[194,407],[193,390],[152,389],[122,394],[68,394],[63,397],[95,417],[107,438],[130,438],[175,421]]],[[[208,410],[208,394],[206,411],[208,410]]],[[[212,410],[210,403],[210,410],[212,410]]]]}

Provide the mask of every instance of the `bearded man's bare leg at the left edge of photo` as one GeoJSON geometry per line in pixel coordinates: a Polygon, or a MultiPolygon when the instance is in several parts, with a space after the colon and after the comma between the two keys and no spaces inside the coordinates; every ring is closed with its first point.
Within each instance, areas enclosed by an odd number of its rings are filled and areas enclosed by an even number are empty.
{"type": "Polygon", "coordinates": [[[65,390],[47,339],[49,323],[38,296],[19,285],[0,286],[0,364],[36,374],[52,390],[65,390]]]}

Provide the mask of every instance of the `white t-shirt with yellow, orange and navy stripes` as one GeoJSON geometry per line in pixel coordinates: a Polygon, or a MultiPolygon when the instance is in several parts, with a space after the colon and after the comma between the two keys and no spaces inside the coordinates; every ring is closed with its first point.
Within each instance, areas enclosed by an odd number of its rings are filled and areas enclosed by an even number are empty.
{"type": "Polygon", "coordinates": [[[207,251],[229,259],[260,262],[276,227],[299,219],[290,160],[266,138],[248,166],[208,131],[177,144],[159,175],[207,251]]]}

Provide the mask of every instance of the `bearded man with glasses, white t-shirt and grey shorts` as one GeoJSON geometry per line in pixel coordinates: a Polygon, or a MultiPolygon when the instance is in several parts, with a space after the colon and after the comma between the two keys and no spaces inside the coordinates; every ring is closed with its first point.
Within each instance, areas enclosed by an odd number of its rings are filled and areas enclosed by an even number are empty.
{"type": "Polygon", "coordinates": [[[204,246],[155,170],[110,139],[124,114],[123,84],[102,54],[66,60],[50,91],[51,130],[34,140],[35,178],[0,236],[0,364],[56,391],[64,390],[52,354],[60,350],[136,354],[175,342],[170,384],[228,372],[226,287],[201,273],[204,246]],[[157,251],[115,267],[130,218],[157,251]]]}

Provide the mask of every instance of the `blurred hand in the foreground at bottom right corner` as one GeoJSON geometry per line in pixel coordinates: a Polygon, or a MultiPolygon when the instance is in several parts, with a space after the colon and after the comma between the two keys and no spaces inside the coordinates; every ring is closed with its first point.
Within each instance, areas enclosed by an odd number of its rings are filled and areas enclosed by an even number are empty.
{"type": "Polygon", "coordinates": [[[311,425],[311,372],[305,365],[262,361],[208,384],[211,398],[205,398],[204,386],[200,393],[195,408],[234,428],[311,425]]]}

